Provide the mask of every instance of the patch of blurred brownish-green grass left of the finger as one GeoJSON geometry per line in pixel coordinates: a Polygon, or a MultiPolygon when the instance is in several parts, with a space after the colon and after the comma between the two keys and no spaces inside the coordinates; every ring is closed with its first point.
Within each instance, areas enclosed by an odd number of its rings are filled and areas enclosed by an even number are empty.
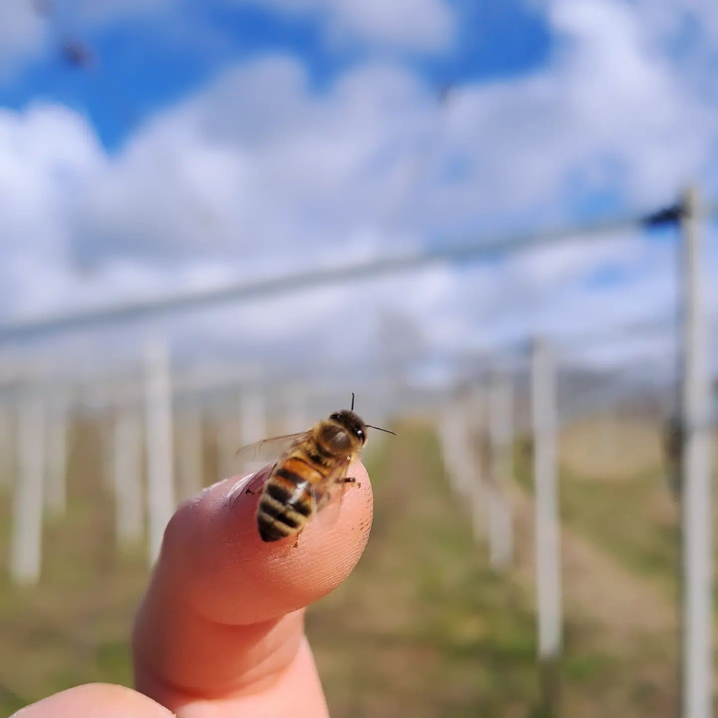
{"type": "MultiPolygon", "coordinates": [[[[139,551],[117,556],[112,505],[93,427],[70,457],[67,516],[48,521],[42,581],[20,589],[0,573],[0,714],[90,681],[131,684],[128,636],[146,583],[139,551]]],[[[0,496],[0,555],[9,548],[7,494],[0,496]]]]}

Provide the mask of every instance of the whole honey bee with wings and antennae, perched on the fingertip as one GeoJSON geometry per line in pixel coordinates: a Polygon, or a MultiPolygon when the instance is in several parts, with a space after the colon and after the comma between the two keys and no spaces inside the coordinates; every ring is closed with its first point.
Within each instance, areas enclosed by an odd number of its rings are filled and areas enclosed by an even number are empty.
{"type": "MultiPolygon", "coordinates": [[[[329,503],[335,485],[355,484],[347,470],[366,444],[366,430],[388,429],[365,424],[352,409],[343,409],[317,421],[311,429],[286,437],[265,439],[250,447],[258,450],[277,442],[286,447],[266,480],[257,508],[262,541],[281,541],[299,534],[312,516],[329,503]]],[[[295,546],[297,543],[295,542],[295,546]]]]}

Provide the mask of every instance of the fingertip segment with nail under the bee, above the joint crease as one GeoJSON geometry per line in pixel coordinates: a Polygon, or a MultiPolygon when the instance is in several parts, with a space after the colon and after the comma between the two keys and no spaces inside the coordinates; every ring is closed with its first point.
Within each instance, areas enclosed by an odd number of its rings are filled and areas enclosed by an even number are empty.
{"type": "Polygon", "coordinates": [[[173,583],[179,580],[192,605],[211,620],[246,625],[305,607],[348,577],[367,544],[373,496],[358,462],[357,485],[345,490],[336,521],[322,522],[320,512],[296,547],[293,538],[262,541],[256,510],[270,470],[205,490],[168,528],[160,563],[172,567],[173,583]]]}

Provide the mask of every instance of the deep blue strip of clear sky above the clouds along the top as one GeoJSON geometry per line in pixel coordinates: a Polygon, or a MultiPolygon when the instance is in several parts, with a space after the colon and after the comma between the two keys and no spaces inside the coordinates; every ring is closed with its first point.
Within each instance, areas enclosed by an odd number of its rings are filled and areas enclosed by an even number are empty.
{"type": "MultiPolygon", "coordinates": [[[[31,3],[27,3],[31,5],[31,3]]],[[[136,17],[86,27],[55,3],[47,15],[47,43],[0,85],[0,104],[22,110],[38,100],[63,103],[85,113],[108,151],[118,151],[143,121],[197,92],[238,62],[287,53],[307,68],[312,90],[363,62],[391,57],[410,67],[427,88],[500,80],[531,73],[549,62],[551,32],[536,9],[510,0],[501,4],[454,2],[452,42],[439,50],[373,47],[357,39],[330,45],[322,35],[321,11],[281,14],[261,4],[170,5],[138,22],[136,17]],[[91,66],[78,69],[62,45],[80,43],[91,66]]]]}

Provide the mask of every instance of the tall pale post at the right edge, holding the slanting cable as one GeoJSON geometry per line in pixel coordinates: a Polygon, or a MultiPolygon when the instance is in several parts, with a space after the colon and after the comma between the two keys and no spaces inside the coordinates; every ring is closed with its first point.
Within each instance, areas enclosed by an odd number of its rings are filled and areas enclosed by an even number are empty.
{"type": "Polygon", "coordinates": [[[712,547],[706,300],[696,190],[684,196],[682,228],[681,511],[683,525],[682,716],[712,716],[712,547]]]}

